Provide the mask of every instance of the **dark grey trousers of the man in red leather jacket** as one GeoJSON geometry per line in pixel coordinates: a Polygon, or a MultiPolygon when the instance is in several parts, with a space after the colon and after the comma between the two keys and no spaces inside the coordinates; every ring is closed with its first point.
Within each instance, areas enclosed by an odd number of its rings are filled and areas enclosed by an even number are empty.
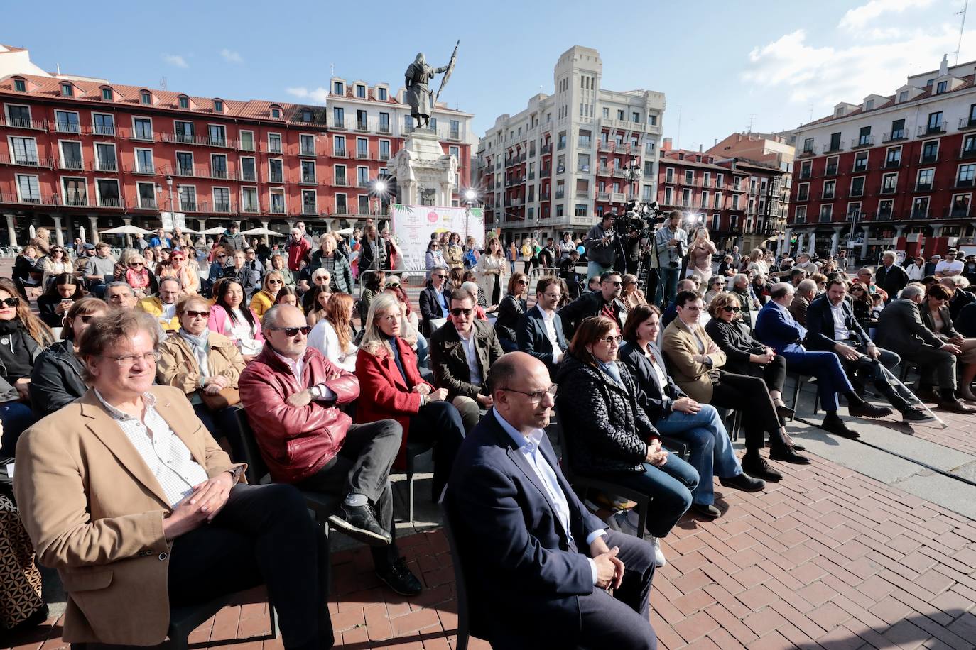
{"type": "Polygon", "coordinates": [[[343,447],[325,467],[296,483],[309,492],[345,497],[362,494],[376,507],[377,521],[393,537],[386,547],[370,547],[378,571],[389,568],[400,556],[393,525],[393,490],[389,469],[400,449],[403,429],[396,420],[353,424],[346,432],[343,447]]]}

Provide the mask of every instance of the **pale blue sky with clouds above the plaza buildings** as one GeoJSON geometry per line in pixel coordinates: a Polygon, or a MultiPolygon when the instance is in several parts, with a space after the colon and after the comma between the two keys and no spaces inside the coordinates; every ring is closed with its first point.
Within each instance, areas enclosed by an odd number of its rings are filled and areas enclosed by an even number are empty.
{"type": "MultiPolygon", "coordinates": [[[[573,45],[594,48],[603,88],[665,93],[664,135],[708,148],[736,131],[792,129],[838,101],[890,95],[916,72],[976,59],[976,2],[961,48],[964,0],[579,0],[282,3],[53,0],[6,3],[0,43],[41,67],[194,96],[323,103],[331,70],[347,81],[403,83],[418,51],[457,66],[441,100],[474,114],[482,135],[502,113],[553,90],[573,45]],[[61,6],[61,8],[59,8],[61,6]],[[600,11],[603,14],[600,14],[600,11]],[[43,17],[51,17],[43,18],[43,17]],[[69,17],[69,18],[68,18],[69,17]]],[[[439,84],[439,80],[435,82],[439,84]]]]}

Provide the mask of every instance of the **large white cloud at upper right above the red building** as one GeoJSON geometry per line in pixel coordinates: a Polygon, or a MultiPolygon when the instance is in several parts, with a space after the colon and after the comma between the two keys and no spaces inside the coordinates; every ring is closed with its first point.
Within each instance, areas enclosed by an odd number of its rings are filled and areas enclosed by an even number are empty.
{"type": "MultiPolygon", "coordinates": [[[[892,95],[910,74],[935,69],[942,55],[956,49],[957,28],[944,24],[930,31],[896,34],[900,38],[858,42],[845,47],[817,47],[807,42],[802,29],[785,34],[749,55],[742,78],[757,87],[783,87],[794,102],[822,108],[838,101],[858,102],[876,93],[892,95]]],[[[976,30],[963,35],[959,60],[972,57],[976,30]]],[[[950,57],[952,62],[954,57],[950,57]]]]}

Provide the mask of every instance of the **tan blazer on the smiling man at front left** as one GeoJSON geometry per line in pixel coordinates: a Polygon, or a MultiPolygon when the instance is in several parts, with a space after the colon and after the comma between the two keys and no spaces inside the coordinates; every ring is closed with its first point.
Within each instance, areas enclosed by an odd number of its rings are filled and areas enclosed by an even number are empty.
{"type": "MultiPolygon", "coordinates": [[[[243,467],[230,462],[183,391],[150,392],[208,477],[243,467]]],[[[20,436],[14,492],[38,560],[58,569],[67,593],[62,638],[161,643],[170,622],[163,517],[172,509],[94,390],[20,436]]]]}

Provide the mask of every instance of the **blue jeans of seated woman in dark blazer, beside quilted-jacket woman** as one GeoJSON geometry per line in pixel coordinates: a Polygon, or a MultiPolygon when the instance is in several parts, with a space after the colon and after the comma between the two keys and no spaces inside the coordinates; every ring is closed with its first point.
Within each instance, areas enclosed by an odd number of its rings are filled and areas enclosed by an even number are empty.
{"type": "MultiPolygon", "coordinates": [[[[722,418],[711,404],[702,404],[697,413],[671,411],[654,423],[664,436],[671,436],[690,447],[691,466],[698,472],[698,487],[691,492],[695,503],[711,506],[715,501],[712,477],[732,478],[742,474],[742,466],[732,449],[722,418]]],[[[669,458],[669,463],[671,459],[669,458]]]]}

